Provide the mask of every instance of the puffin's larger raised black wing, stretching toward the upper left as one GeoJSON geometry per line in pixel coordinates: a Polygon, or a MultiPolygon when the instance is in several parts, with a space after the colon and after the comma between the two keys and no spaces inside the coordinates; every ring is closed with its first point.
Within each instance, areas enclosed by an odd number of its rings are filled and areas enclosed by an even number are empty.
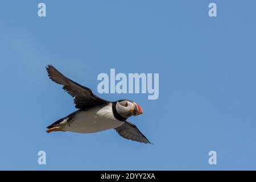
{"type": "Polygon", "coordinates": [[[62,75],[52,65],[48,65],[46,69],[49,78],[57,84],[63,85],[63,89],[74,97],[77,109],[88,109],[93,106],[109,104],[109,101],[96,96],[91,89],[77,84],[77,82],[62,75]]]}

